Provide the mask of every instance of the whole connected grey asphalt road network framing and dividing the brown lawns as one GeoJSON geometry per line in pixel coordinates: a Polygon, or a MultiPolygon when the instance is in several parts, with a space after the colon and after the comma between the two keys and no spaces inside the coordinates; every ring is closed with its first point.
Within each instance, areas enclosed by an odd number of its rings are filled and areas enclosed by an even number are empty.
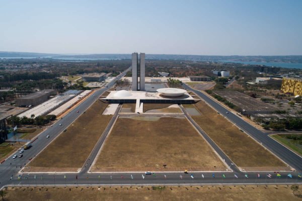
{"type": "MultiPolygon", "coordinates": [[[[130,68],[129,68],[130,69],[130,68]]],[[[127,70],[129,70],[127,69],[127,70]]],[[[116,79],[121,78],[126,71],[123,72],[116,79]]],[[[114,85],[112,80],[108,83],[108,88],[114,85]]],[[[221,105],[217,104],[214,100],[206,96],[200,91],[194,90],[189,86],[188,89],[194,91],[201,98],[203,98],[209,105],[211,105],[215,110],[221,114],[226,114],[226,118],[237,124],[242,130],[247,132],[251,137],[256,139],[274,154],[284,160],[286,163],[301,171],[302,163],[301,158],[283,147],[282,145],[276,143],[270,139],[266,134],[262,133],[258,129],[254,128],[252,125],[248,124],[240,117],[237,117],[230,111],[226,110],[221,105]]],[[[93,173],[88,172],[91,167],[91,163],[86,161],[86,164],[78,173],[19,173],[21,167],[29,162],[29,159],[35,157],[44,147],[46,147],[52,139],[58,136],[64,129],[68,127],[75,119],[77,119],[85,110],[87,110],[95,100],[108,89],[103,88],[88,97],[82,104],[77,108],[72,110],[70,113],[64,116],[63,119],[58,120],[55,124],[49,127],[46,131],[42,132],[38,138],[33,142],[33,147],[26,150],[24,157],[21,159],[12,159],[9,157],[3,164],[0,165],[0,187],[4,185],[135,185],[135,184],[221,184],[221,183],[301,183],[302,178],[299,176],[298,172],[280,172],[277,175],[276,172],[240,172],[236,165],[232,165],[232,161],[228,156],[215,146],[214,142],[203,133],[198,125],[195,125],[199,129],[203,137],[213,146],[216,152],[225,160],[225,163],[231,165],[230,169],[233,171],[227,172],[193,172],[189,174],[184,174],[183,172],[157,172],[154,175],[145,175],[143,172],[123,172],[123,173],[93,173]],[[77,113],[76,111],[80,111],[77,113]],[[61,124],[62,126],[59,126],[61,124]],[[51,135],[50,139],[46,138],[46,135],[51,135]],[[11,164],[12,163],[12,164],[11,164]]],[[[119,108],[120,109],[120,108],[119,108]]],[[[110,127],[113,125],[114,120],[117,118],[117,113],[110,121],[108,127],[105,129],[99,141],[96,143],[95,148],[89,156],[92,161],[100,149],[101,145],[106,139],[106,135],[109,133],[110,127]]],[[[190,121],[190,117],[185,115],[190,121]]],[[[194,125],[194,123],[193,123],[194,125]]],[[[89,160],[88,159],[88,160],[89,160]]],[[[89,161],[90,161],[89,160],[89,161]]],[[[26,169],[24,169],[26,171],[26,169]]],[[[147,171],[147,170],[146,170],[147,171]]]]}

